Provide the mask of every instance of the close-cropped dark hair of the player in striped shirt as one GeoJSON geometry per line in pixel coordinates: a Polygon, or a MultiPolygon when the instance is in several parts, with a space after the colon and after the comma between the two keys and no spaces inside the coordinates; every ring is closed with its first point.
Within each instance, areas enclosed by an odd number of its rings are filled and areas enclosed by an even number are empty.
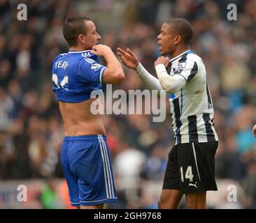
{"type": "Polygon", "coordinates": [[[170,28],[182,38],[183,43],[186,45],[190,45],[190,40],[193,36],[193,29],[187,20],[183,18],[173,18],[168,20],[167,24],[169,24],[170,28]]]}

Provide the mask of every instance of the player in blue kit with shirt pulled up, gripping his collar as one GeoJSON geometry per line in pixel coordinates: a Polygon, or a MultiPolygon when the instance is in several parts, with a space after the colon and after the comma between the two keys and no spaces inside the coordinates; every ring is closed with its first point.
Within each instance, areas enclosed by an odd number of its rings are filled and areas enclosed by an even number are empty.
{"type": "Polygon", "coordinates": [[[117,201],[106,132],[100,115],[90,112],[90,98],[102,84],[118,84],[125,75],[115,54],[97,45],[100,36],[87,17],[71,17],[64,23],[69,52],[52,61],[52,90],[64,121],[62,169],[72,206],[103,208],[117,201]],[[99,56],[106,66],[99,64],[99,56]]]}

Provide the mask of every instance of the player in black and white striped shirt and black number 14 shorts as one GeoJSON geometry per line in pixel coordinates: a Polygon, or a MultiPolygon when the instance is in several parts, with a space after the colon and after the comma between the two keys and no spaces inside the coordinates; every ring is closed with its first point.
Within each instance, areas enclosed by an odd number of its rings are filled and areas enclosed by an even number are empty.
{"type": "Polygon", "coordinates": [[[188,208],[207,208],[206,191],[217,190],[213,102],[204,61],[190,49],[192,36],[192,26],[183,18],[162,24],[157,36],[162,56],[155,61],[158,79],[130,49],[118,49],[122,63],[134,69],[149,89],[169,94],[175,144],[169,153],[159,208],[178,208],[183,194],[188,208]]]}

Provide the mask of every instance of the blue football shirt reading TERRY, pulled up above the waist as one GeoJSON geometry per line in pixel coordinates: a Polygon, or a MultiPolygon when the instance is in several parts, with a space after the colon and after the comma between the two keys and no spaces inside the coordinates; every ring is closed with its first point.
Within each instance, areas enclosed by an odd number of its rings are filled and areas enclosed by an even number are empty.
{"type": "Polygon", "coordinates": [[[92,91],[101,90],[105,69],[90,50],[59,54],[52,61],[52,91],[59,101],[88,100],[92,91]]]}

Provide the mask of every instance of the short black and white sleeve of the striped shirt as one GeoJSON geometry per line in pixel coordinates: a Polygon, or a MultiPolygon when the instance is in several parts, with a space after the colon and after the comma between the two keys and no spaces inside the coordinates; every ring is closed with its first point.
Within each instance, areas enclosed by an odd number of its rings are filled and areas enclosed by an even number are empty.
{"type": "Polygon", "coordinates": [[[197,71],[197,62],[195,62],[194,60],[180,60],[178,63],[178,68],[174,70],[173,75],[180,75],[184,77],[186,83],[189,83],[194,75],[197,74],[197,71]]]}

